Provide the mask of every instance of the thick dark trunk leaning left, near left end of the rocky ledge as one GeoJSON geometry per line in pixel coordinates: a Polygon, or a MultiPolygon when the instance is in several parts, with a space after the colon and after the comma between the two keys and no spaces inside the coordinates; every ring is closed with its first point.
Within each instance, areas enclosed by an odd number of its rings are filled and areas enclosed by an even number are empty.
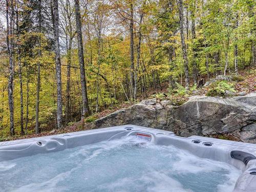
{"type": "Polygon", "coordinates": [[[83,46],[82,46],[82,31],[81,31],[81,15],[79,8],[79,0],[75,0],[75,15],[76,15],[76,32],[78,41],[78,57],[80,65],[80,80],[81,80],[81,92],[82,92],[82,121],[85,115],[89,115],[89,103],[87,97],[86,86],[86,73],[84,71],[84,58],[83,58],[83,46]]]}

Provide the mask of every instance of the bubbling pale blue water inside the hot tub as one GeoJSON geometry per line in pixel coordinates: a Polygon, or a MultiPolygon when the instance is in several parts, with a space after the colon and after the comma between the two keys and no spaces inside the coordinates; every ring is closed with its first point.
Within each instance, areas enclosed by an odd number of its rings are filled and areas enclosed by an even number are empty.
{"type": "Polygon", "coordinates": [[[0,162],[0,191],[229,192],[240,170],[125,138],[0,162]],[[5,168],[3,168],[5,167],[5,168]]]}

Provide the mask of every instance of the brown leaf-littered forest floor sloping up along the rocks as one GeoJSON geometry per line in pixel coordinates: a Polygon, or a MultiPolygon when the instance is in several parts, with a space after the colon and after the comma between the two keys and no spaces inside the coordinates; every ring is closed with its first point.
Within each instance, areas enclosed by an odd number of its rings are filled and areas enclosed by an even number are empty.
{"type": "MultiPolygon", "coordinates": [[[[243,77],[243,80],[236,82],[230,82],[232,83],[233,89],[237,93],[248,94],[251,92],[256,91],[256,68],[246,68],[245,70],[239,71],[240,76],[243,77]]],[[[207,81],[207,80],[206,80],[207,81]]],[[[161,99],[170,99],[177,103],[177,105],[183,104],[185,101],[188,100],[188,98],[192,95],[206,95],[209,91],[210,87],[203,87],[199,89],[194,89],[193,91],[190,91],[189,94],[181,94],[182,90],[176,90],[176,92],[169,92],[167,89],[168,82],[161,84],[161,89],[154,90],[150,89],[147,90],[148,97],[141,98],[140,100],[154,98],[154,97],[161,97],[161,99]]],[[[192,85],[191,85],[192,87],[192,85]]],[[[138,100],[137,102],[139,102],[138,100]]],[[[8,140],[16,140],[16,139],[26,139],[26,138],[33,138],[33,137],[41,137],[41,136],[48,136],[48,135],[55,135],[55,134],[62,134],[62,133],[70,133],[70,132],[76,132],[76,131],[83,131],[83,130],[89,130],[87,123],[90,123],[98,118],[101,118],[103,116],[109,115],[117,110],[128,108],[129,106],[135,104],[136,102],[129,103],[129,102],[123,102],[116,106],[114,106],[112,109],[106,109],[103,110],[100,113],[93,114],[90,117],[86,118],[84,120],[84,126],[82,129],[82,123],[81,121],[71,123],[68,126],[63,127],[61,130],[52,130],[52,131],[45,131],[41,132],[40,134],[30,134],[30,135],[23,135],[23,136],[13,136],[13,137],[6,137],[6,138],[0,138],[1,141],[8,141],[8,140]]]]}

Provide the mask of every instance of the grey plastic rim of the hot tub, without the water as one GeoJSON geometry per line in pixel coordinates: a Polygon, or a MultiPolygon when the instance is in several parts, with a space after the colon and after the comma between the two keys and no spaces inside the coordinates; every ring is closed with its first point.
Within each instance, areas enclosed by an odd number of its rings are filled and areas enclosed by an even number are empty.
{"type": "Polygon", "coordinates": [[[103,140],[135,135],[160,145],[175,145],[200,158],[229,163],[242,170],[234,191],[256,191],[256,144],[191,136],[178,137],[173,132],[137,125],[114,126],[97,130],[0,142],[0,161],[50,153],[103,140]]]}

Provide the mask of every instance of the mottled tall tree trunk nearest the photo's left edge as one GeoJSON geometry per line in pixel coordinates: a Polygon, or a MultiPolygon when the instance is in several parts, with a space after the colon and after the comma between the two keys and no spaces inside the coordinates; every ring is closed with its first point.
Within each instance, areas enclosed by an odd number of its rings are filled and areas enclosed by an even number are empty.
{"type": "Polygon", "coordinates": [[[11,0],[11,17],[10,17],[10,28],[9,28],[9,0],[6,0],[6,42],[7,42],[7,51],[9,55],[9,79],[8,79],[8,103],[10,110],[10,134],[15,135],[14,132],[14,110],[13,110],[13,18],[14,18],[14,9],[13,9],[13,0],[11,0]],[[11,38],[10,38],[11,37],[11,38]],[[9,39],[10,38],[10,39],[9,39]]]}

